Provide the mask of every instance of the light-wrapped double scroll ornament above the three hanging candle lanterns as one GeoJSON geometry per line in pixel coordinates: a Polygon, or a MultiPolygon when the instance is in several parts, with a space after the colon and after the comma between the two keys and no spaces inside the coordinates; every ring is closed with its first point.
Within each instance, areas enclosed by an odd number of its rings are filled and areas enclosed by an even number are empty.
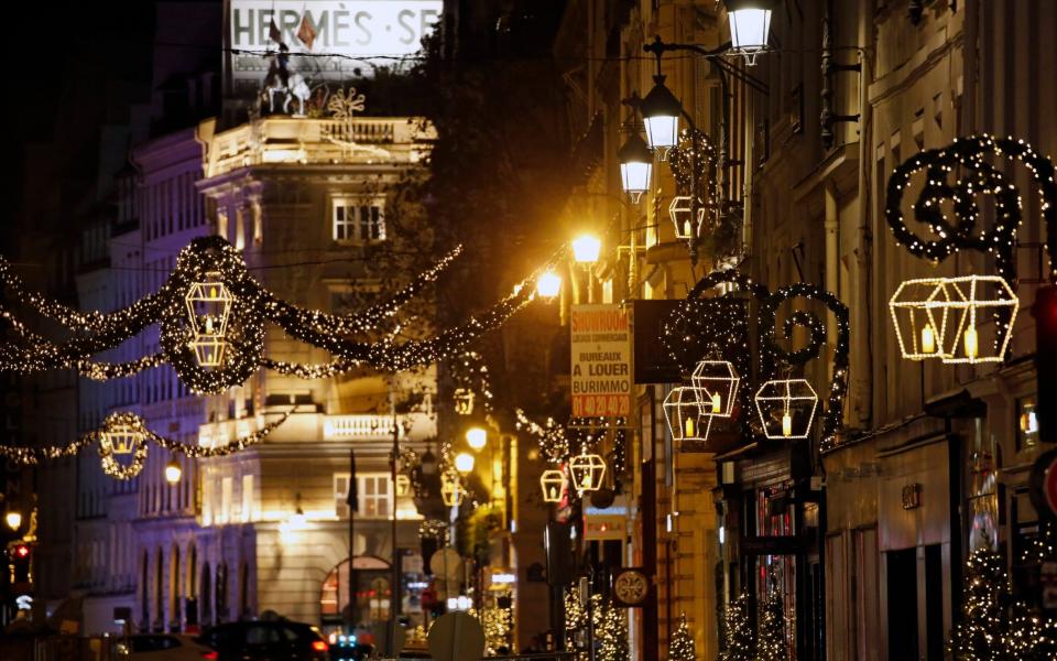
{"type": "Polygon", "coordinates": [[[793,342],[797,326],[806,328],[807,344],[797,349],[785,349],[777,337],[778,307],[794,299],[818,301],[833,313],[837,323],[837,345],[833,353],[833,376],[827,393],[826,411],[819,447],[822,452],[836,447],[843,420],[844,397],[848,393],[850,324],[848,307],[836,295],[813,284],[797,283],[771,292],[735,269],[715,271],[702,278],[686,301],[665,324],[665,348],[680,366],[693,366],[700,357],[720,354],[730,360],[741,375],[753,383],[742,388],[739,398],[743,412],[751,410],[750,399],[759,384],[775,378],[783,367],[804,365],[821,355],[826,344],[826,326],[818,316],[806,310],[789,313],[782,325],[782,340],[793,342]],[[701,294],[720,284],[732,284],[737,290],[721,296],[701,299],[701,294]],[[758,369],[751,369],[752,356],[748,337],[749,324],[744,317],[726,314],[723,305],[739,304],[748,294],[756,302],[758,369]]]}

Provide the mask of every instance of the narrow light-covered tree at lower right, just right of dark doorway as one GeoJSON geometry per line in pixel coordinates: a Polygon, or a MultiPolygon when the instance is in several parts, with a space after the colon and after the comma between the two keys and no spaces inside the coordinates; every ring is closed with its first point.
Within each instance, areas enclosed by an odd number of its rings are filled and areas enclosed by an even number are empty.
{"type": "Polygon", "coordinates": [[[1003,603],[1009,597],[1009,578],[1002,556],[988,549],[969,556],[961,621],[948,644],[956,661],[1009,659],[1009,626],[1003,603]]]}

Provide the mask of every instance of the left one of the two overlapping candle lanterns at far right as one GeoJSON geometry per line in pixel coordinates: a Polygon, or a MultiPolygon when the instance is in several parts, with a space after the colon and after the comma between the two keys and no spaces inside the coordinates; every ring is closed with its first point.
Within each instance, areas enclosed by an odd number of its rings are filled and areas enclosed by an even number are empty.
{"type": "Polygon", "coordinates": [[[903,358],[952,357],[961,319],[950,303],[962,299],[949,278],[919,278],[900,284],[889,300],[889,312],[903,358]]]}

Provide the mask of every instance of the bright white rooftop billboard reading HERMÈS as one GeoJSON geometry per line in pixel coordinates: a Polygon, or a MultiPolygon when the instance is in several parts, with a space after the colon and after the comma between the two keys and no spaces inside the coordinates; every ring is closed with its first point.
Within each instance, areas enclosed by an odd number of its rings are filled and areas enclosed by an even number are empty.
{"type": "Polygon", "coordinates": [[[440,21],[443,0],[228,0],[228,90],[255,93],[280,50],[312,82],[400,66],[440,21]]]}

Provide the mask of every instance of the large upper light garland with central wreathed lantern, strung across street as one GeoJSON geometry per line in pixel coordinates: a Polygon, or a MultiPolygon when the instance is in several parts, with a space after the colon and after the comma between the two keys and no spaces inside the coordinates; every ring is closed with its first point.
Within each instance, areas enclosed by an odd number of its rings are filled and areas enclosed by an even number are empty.
{"type": "Polygon", "coordinates": [[[502,325],[531,301],[536,279],[562,257],[559,252],[526,278],[519,293],[461,326],[427,339],[373,339],[381,324],[435,282],[459,252],[451,251],[386,301],[349,315],[303,308],[280,299],[249,274],[241,254],[220,237],[195,239],[181,251],[175,270],[159,291],[110,314],[76,311],[28,292],[10,264],[0,259],[0,283],[7,292],[68,330],[65,339],[51,340],[30,330],[12,311],[3,310],[0,319],[7,322],[15,339],[0,345],[0,371],[26,375],[75,368],[92,379],[113,379],[170,364],[193,392],[216,394],[244,382],[260,367],[304,379],[329,377],[357,366],[406,370],[458,355],[502,325]],[[222,318],[216,312],[204,313],[199,304],[219,305],[222,318]],[[334,359],[323,365],[301,365],[268,358],[265,323],[329,351],[334,359]],[[160,353],[122,364],[92,359],[153,324],[160,326],[160,353]]]}

